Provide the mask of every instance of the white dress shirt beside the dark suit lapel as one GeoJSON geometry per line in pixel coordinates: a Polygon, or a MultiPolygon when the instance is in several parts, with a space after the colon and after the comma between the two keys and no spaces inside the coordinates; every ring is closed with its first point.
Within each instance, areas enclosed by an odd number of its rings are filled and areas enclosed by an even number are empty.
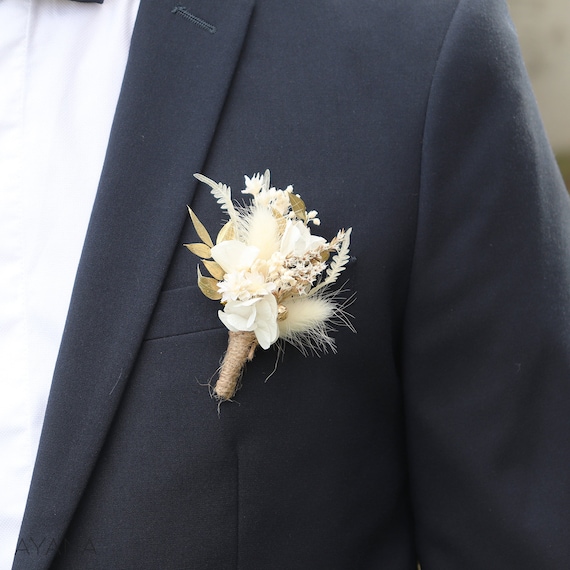
{"type": "Polygon", "coordinates": [[[0,0],[0,568],[10,568],[139,0],[0,0]]]}

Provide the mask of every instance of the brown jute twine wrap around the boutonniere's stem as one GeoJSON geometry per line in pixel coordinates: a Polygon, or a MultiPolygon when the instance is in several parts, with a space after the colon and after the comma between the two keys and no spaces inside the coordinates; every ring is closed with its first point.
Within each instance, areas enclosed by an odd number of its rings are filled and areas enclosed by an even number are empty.
{"type": "Polygon", "coordinates": [[[229,400],[237,390],[237,383],[246,362],[253,359],[257,339],[249,331],[229,331],[228,349],[224,355],[220,376],[214,388],[214,395],[220,400],[229,400]]]}

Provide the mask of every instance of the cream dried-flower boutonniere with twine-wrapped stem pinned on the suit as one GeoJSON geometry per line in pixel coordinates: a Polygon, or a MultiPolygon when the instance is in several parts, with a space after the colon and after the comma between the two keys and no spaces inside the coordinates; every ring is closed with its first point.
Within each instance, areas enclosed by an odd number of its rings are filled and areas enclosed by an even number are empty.
{"type": "Polygon", "coordinates": [[[270,187],[269,171],[245,177],[242,193],[251,201],[241,205],[225,184],[194,176],[210,186],[228,217],[214,244],[188,208],[202,243],[185,244],[211,275],[203,275],[198,266],[200,290],[223,305],[218,316],[229,338],[214,395],[228,400],[258,346],[268,349],[286,341],[303,354],[334,352],[334,327],[354,330],[346,312],[350,299],[331,289],[349,261],[351,228],[330,241],[313,235],[310,225],[320,224],[317,212],[307,212],[292,186],[270,187]]]}

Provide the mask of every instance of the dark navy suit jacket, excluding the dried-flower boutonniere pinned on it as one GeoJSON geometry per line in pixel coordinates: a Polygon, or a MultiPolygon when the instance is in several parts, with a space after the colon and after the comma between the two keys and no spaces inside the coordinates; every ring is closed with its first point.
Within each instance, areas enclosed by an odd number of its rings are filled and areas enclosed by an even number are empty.
{"type": "Polygon", "coordinates": [[[502,1],[142,0],[14,569],[567,568],[569,247],[502,1]],[[266,168],[357,334],[218,411],[186,205],[266,168]]]}

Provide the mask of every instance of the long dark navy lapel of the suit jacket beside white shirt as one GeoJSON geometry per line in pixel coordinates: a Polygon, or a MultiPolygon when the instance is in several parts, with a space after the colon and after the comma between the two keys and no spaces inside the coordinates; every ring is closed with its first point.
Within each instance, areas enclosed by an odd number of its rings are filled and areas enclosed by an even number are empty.
{"type": "Polygon", "coordinates": [[[141,0],[14,569],[48,568],[103,445],[186,219],[253,0],[141,0]],[[215,26],[216,31],[204,25],[215,26]],[[31,551],[33,552],[33,550],[31,551]]]}

